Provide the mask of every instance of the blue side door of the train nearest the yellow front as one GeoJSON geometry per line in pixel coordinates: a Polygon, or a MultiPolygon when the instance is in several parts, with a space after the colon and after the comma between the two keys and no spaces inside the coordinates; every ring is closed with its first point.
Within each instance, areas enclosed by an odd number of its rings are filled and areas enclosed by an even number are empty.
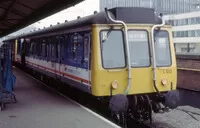
{"type": "Polygon", "coordinates": [[[76,67],[80,68],[77,70],[82,80],[82,83],[88,88],[90,85],[90,39],[91,33],[88,31],[82,31],[75,33],[72,36],[73,45],[73,63],[76,67]],[[75,48],[74,48],[75,46],[75,48]]]}

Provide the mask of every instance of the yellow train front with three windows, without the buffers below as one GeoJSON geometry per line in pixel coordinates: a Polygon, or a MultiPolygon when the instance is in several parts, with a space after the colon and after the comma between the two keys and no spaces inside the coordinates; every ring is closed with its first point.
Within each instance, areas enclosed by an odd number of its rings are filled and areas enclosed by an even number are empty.
{"type": "MultiPolygon", "coordinates": [[[[93,25],[92,93],[95,96],[123,94],[128,85],[127,62],[121,26],[93,25]],[[114,26],[111,30],[111,26],[114,26]]],[[[152,25],[128,25],[131,56],[131,87],[133,94],[155,93],[152,70],[152,25]]],[[[156,84],[160,92],[176,90],[177,71],[170,26],[155,31],[157,58],[156,84]]]]}

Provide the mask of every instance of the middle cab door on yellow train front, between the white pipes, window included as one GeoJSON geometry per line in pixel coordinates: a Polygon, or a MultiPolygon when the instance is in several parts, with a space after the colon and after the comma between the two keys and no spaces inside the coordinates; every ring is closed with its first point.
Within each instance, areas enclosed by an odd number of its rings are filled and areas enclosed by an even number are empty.
{"type": "Polygon", "coordinates": [[[152,67],[149,33],[145,29],[128,31],[131,64],[131,92],[139,94],[152,92],[152,67]]]}

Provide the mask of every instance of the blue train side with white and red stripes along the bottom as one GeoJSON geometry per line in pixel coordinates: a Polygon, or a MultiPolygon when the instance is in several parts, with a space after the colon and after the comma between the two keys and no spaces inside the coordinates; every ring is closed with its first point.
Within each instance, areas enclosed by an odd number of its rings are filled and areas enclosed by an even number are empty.
{"type": "MultiPolygon", "coordinates": [[[[32,38],[29,43],[25,57],[27,67],[91,93],[90,28],[51,37],[32,38]]],[[[18,50],[17,62],[21,63],[20,49],[18,50]]]]}

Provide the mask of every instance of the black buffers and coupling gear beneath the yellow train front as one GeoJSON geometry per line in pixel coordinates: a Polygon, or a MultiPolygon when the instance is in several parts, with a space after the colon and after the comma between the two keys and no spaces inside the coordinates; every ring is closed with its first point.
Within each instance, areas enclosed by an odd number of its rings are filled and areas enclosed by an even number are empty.
{"type": "Polygon", "coordinates": [[[122,125],[127,119],[133,119],[139,123],[149,120],[152,123],[153,113],[165,113],[175,109],[180,103],[177,91],[139,94],[139,95],[115,95],[110,98],[109,108],[111,115],[122,125]]]}

